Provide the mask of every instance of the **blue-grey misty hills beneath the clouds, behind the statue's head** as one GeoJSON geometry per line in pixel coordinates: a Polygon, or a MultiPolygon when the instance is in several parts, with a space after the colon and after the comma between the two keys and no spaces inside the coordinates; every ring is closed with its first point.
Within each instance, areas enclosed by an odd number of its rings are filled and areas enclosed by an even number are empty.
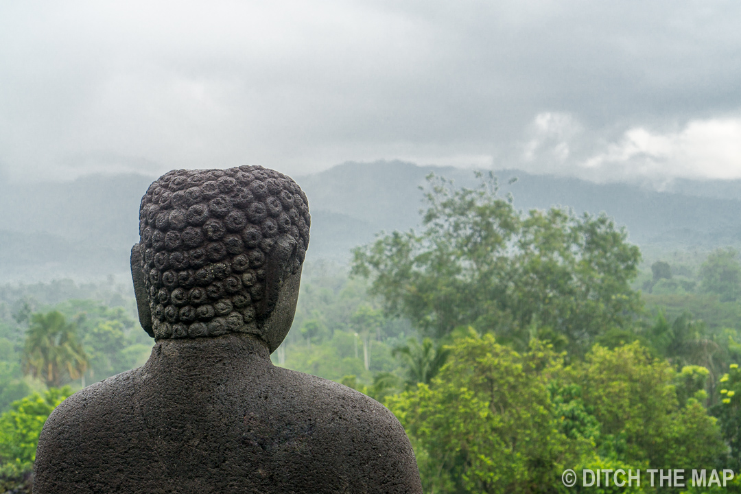
{"type": "MultiPolygon", "coordinates": [[[[418,187],[436,173],[466,187],[471,170],[418,167],[401,161],[345,163],[296,176],[312,215],[308,259],[349,258],[352,247],[375,233],[408,230],[419,222],[418,187]]],[[[497,172],[502,194],[518,209],[571,207],[604,211],[625,226],[630,240],[660,250],[741,243],[741,182],[681,181],[674,192],[631,184],[594,184],[577,178],[497,172]],[[517,177],[514,184],[508,179],[517,177]]],[[[125,276],[131,245],[138,241],[138,210],[153,177],[87,176],[70,182],[0,184],[2,281],[125,276]]]]}

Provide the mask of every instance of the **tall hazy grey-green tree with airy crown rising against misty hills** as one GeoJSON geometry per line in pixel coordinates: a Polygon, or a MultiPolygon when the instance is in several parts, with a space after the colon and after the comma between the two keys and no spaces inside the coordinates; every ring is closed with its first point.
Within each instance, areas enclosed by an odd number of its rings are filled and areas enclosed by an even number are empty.
{"type": "Polygon", "coordinates": [[[408,318],[423,336],[472,325],[525,349],[536,328],[584,352],[641,310],[629,286],[639,250],[607,216],[519,213],[497,195],[493,175],[476,190],[428,180],[422,233],[394,232],[357,248],[352,270],[371,278],[386,313],[408,318]]]}

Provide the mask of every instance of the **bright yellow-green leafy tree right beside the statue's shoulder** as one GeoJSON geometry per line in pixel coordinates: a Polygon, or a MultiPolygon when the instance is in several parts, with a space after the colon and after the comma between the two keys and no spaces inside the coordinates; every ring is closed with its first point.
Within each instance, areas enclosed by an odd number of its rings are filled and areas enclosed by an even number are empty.
{"type": "Polygon", "coordinates": [[[425,492],[529,493],[579,461],[559,433],[542,347],[521,355],[494,336],[457,340],[431,384],[387,399],[411,435],[425,492]]]}

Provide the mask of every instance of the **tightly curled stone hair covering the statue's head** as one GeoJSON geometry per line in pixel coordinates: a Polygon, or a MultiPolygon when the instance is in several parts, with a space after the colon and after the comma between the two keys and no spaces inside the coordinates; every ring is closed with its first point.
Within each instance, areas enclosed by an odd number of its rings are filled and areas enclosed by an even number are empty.
{"type": "Polygon", "coordinates": [[[151,318],[142,325],[158,340],[262,336],[283,282],[300,273],[309,225],[305,194],[274,170],[166,173],[139,209],[135,249],[151,318]]]}

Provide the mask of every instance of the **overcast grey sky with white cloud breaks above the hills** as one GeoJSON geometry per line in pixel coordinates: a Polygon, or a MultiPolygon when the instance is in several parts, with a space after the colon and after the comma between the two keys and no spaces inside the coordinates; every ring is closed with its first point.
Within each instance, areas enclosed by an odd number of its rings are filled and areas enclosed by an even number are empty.
{"type": "Polygon", "coordinates": [[[0,174],[741,178],[738,1],[0,0],[0,174]]]}

